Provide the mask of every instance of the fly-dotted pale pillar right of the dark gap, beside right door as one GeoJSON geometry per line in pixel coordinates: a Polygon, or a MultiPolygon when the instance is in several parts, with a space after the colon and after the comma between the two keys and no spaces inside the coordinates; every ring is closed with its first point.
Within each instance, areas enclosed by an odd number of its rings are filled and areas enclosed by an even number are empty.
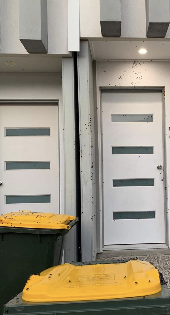
{"type": "Polygon", "coordinates": [[[82,261],[96,259],[96,174],[93,68],[88,41],[80,42],[78,62],[82,261]]]}

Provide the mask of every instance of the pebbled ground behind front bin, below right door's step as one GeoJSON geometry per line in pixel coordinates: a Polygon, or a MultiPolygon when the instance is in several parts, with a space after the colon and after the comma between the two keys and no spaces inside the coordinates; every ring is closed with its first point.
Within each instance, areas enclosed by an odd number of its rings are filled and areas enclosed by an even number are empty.
{"type": "MultiPolygon", "coordinates": [[[[97,261],[108,261],[118,259],[130,259],[136,257],[112,257],[112,258],[97,258],[97,261]]],[[[138,260],[144,260],[151,262],[160,272],[163,273],[163,277],[167,282],[167,286],[170,289],[170,255],[151,255],[151,256],[138,256],[138,260]]]]}

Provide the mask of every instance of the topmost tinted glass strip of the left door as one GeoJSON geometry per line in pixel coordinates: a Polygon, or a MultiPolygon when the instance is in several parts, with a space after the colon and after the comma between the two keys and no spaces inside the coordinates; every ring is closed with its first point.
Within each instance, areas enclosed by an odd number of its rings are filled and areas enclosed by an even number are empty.
{"type": "Polygon", "coordinates": [[[5,129],[6,136],[49,136],[50,128],[13,128],[5,129]]]}

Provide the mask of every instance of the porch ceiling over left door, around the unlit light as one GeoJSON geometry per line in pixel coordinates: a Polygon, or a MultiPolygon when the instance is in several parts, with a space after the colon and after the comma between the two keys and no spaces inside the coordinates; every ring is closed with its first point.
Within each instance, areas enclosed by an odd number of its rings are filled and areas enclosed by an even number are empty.
{"type": "Polygon", "coordinates": [[[62,72],[62,58],[0,56],[0,72],[62,72]],[[13,61],[16,65],[8,66],[5,61],[13,61]]]}

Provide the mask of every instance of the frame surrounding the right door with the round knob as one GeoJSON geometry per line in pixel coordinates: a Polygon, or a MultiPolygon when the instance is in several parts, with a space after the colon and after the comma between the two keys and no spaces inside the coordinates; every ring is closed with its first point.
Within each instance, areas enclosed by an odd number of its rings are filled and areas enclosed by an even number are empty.
{"type": "Polygon", "coordinates": [[[97,211],[97,220],[99,222],[97,229],[97,249],[101,253],[103,250],[123,250],[123,249],[158,249],[168,248],[168,223],[167,223],[167,190],[164,192],[165,205],[165,239],[166,243],[153,244],[127,244],[127,245],[107,245],[104,246],[104,198],[103,198],[103,143],[102,143],[102,92],[162,92],[162,148],[163,148],[163,178],[164,187],[167,187],[167,151],[166,151],[166,112],[165,112],[165,87],[99,87],[99,104],[98,111],[98,172],[99,172],[99,209],[97,211]]]}

